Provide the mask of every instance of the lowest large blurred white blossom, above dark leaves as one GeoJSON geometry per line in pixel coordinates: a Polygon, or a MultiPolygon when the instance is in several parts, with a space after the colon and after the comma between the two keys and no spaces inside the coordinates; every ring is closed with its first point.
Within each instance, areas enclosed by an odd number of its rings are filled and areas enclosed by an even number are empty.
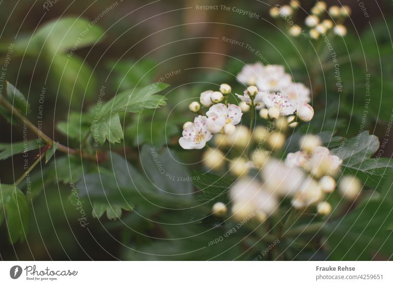
{"type": "Polygon", "coordinates": [[[230,188],[229,196],[233,200],[233,204],[236,205],[236,207],[232,207],[235,215],[237,211],[244,214],[262,211],[270,215],[279,204],[277,197],[273,193],[266,191],[259,182],[250,178],[238,180],[230,188]],[[236,212],[234,208],[236,208],[236,212]]]}

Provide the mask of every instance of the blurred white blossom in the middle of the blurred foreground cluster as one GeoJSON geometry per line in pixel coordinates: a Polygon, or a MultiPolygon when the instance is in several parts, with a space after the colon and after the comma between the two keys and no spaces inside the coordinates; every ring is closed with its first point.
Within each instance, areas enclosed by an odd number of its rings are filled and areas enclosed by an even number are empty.
{"type": "Polygon", "coordinates": [[[292,196],[303,180],[303,172],[298,167],[288,167],[280,160],[271,158],[262,168],[264,186],[281,196],[292,196]]]}

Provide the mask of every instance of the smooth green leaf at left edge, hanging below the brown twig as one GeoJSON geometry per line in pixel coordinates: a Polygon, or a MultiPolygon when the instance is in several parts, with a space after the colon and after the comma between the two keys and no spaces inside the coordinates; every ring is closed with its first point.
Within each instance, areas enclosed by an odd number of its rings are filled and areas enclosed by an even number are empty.
{"type": "Polygon", "coordinates": [[[0,222],[6,218],[11,243],[23,242],[28,234],[30,210],[28,200],[15,185],[0,184],[0,222]]]}

